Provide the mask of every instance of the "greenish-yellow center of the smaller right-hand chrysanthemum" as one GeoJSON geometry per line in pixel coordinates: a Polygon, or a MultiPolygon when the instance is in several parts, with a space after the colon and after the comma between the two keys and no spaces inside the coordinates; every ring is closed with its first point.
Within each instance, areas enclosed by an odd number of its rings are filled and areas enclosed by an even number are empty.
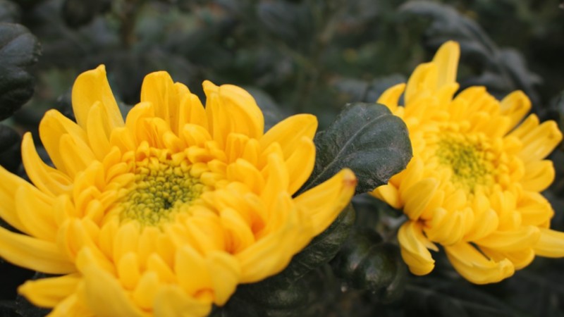
{"type": "Polygon", "coordinates": [[[439,139],[435,155],[439,163],[452,170],[450,180],[458,187],[474,193],[478,185],[488,185],[493,172],[489,161],[489,145],[477,136],[447,133],[439,139]]]}

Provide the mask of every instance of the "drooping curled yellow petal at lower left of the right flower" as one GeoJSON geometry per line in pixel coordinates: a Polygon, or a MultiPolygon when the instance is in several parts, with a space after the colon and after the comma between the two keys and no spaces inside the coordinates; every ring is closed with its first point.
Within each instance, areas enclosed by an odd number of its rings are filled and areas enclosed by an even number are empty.
{"type": "Polygon", "coordinates": [[[427,240],[422,233],[421,225],[415,221],[407,220],[398,232],[398,241],[401,247],[401,256],[410,272],[415,275],[426,275],[433,271],[435,261],[431,257],[428,247],[436,247],[427,240]]]}

